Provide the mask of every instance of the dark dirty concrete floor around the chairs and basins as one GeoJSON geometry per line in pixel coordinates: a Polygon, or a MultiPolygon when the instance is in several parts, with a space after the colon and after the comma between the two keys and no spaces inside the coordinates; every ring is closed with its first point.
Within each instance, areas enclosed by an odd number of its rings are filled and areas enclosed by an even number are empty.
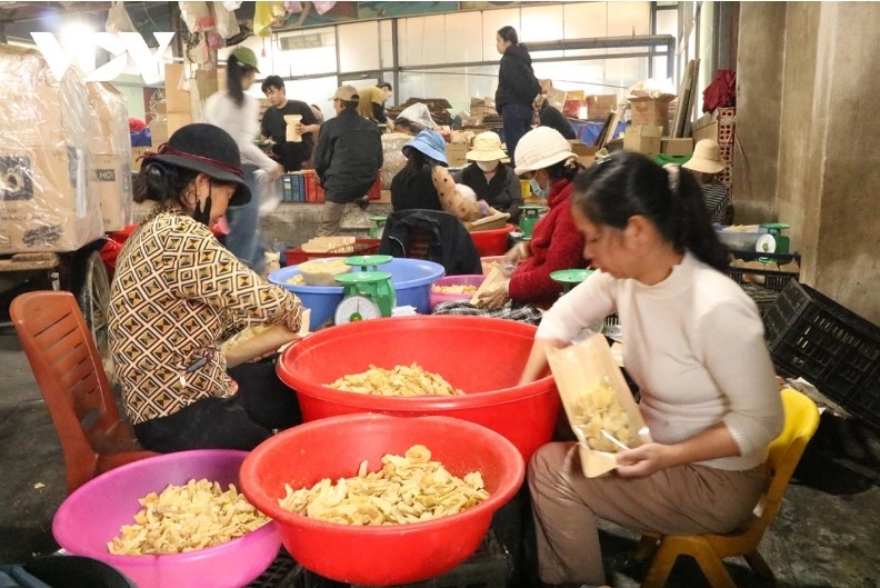
{"type": "MultiPolygon", "coordinates": [[[[728,567],[738,586],[880,587],[877,438],[873,431],[823,416],[798,479],[761,547],[778,582],[760,581],[744,562],[733,559],[728,567]]],[[[10,328],[0,329],[0,564],[26,562],[58,548],[51,521],[63,498],[58,438],[18,339],[10,328]]],[[[634,536],[611,526],[606,529],[606,557],[609,569],[614,570],[610,579],[618,588],[637,587],[643,570],[626,566],[634,536]]],[[[696,566],[683,560],[669,586],[699,588],[707,584],[696,566]]]]}

